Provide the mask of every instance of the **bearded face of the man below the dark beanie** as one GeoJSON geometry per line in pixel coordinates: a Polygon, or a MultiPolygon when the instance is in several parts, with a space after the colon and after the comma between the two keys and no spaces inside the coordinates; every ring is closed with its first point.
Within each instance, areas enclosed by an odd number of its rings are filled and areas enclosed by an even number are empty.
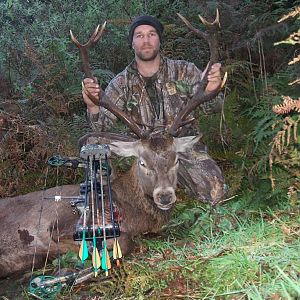
{"type": "Polygon", "coordinates": [[[159,53],[160,40],[156,29],[150,25],[140,25],[133,33],[132,47],[135,55],[143,61],[153,60],[159,53]]]}

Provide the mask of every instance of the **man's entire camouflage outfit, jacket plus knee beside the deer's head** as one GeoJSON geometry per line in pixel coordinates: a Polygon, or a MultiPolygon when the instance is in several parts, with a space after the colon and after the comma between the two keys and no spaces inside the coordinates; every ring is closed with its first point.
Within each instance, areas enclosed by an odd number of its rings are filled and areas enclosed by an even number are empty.
{"type": "MultiPolygon", "coordinates": [[[[162,57],[159,71],[151,78],[144,78],[138,73],[136,62],[133,61],[110,82],[105,94],[139,126],[156,128],[172,123],[180,109],[197,91],[201,75],[202,72],[193,63],[162,57]]],[[[222,103],[223,97],[219,95],[201,108],[208,114],[219,110],[222,103]]],[[[124,132],[120,121],[104,108],[100,108],[100,114],[88,117],[94,131],[124,132]]],[[[186,126],[180,133],[197,134],[199,132],[195,124],[186,126]]],[[[203,145],[199,144],[197,148],[182,156],[179,184],[192,196],[216,204],[224,194],[222,172],[203,145]]]]}

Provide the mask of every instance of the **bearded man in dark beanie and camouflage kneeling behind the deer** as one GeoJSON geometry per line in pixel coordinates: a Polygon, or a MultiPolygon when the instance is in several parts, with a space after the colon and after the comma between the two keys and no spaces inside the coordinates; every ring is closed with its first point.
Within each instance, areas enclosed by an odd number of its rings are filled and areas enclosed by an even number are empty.
{"type": "MultiPolygon", "coordinates": [[[[160,54],[162,33],[163,26],[155,17],[137,17],[130,26],[128,36],[135,59],[105,90],[111,101],[144,128],[170,124],[197,91],[201,81],[202,72],[193,63],[171,60],[160,54]]],[[[219,63],[212,66],[207,91],[220,87],[220,68],[219,63]]],[[[97,83],[92,79],[84,79],[82,95],[92,128],[95,131],[112,130],[116,127],[116,118],[95,105],[88,96],[99,99],[101,94],[97,83]]],[[[220,98],[217,97],[216,102],[218,100],[220,98]]],[[[195,134],[195,124],[185,126],[180,133],[195,134]]],[[[219,202],[224,194],[221,171],[203,149],[194,149],[193,153],[185,154],[180,164],[178,180],[192,196],[212,204],[219,202]]]]}

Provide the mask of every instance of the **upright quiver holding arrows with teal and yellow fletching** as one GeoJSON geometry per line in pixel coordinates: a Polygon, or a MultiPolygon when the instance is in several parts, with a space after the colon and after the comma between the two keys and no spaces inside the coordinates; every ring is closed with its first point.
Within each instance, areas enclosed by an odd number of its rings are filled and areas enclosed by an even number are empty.
{"type": "MultiPolygon", "coordinates": [[[[86,162],[86,180],[80,186],[80,193],[85,201],[76,204],[81,217],[73,237],[75,241],[81,242],[82,247],[87,242],[92,245],[91,258],[95,276],[100,266],[108,275],[108,266],[111,264],[109,255],[104,254],[107,252],[106,240],[117,239],[120,236],[119,222],[116,218],[118,214],[111,196],[111,167],[108,161],[110,154],[106,144],[84,145],[80,151],[81,159],[86,162]]],[[[82,251],[79,252],[79,256],[83,262],[87,255],[84,253],[82,256],[82,251]]]]}

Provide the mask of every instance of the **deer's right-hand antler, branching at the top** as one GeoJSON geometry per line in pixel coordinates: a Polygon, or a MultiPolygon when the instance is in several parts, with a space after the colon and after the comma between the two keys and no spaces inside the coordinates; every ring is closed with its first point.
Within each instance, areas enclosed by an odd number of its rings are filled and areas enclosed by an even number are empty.
{"type": "Polygon", "coordinates": [[[178,115],[175,117],[172,125],[169,128],[169,133],[173,136],[178,135],[178,129],[180,127],[188,123],[191,123],[194,120],[194,119],[187,120],[186,118],[197,106],[199,106],[204,102],[212,100],[218,95],[218,93],[220,92],[221,88],[224,86],[227,79],[227,73],[225,73],[222,84],[219,88],[211,92],[205,91],[205,88],[208,83],[207,76],[209,70],[214,63],[218,62],[218,58],[219,58],[218,39],[217,39],[217,32],[218,32],[218,28],[220,27],[219,10],[217,9],[216,18],[213,22],[208,22],[203,17],[199,16],[201,22],[206,26],[207,32],[202,32],[199,29],[194,28],[185,17],[183,17],[180,14],[177,15],[191,31],[193,31],[198,37],[204,38],[208,42],[209,50],[210,50],[210,60],[206,70],[204,71],[203,74],[204,76],[202,81],[200,82],[198,91],[192,97],[192,99],[189,100],[186,106],[178,113],[178,115]]]}

